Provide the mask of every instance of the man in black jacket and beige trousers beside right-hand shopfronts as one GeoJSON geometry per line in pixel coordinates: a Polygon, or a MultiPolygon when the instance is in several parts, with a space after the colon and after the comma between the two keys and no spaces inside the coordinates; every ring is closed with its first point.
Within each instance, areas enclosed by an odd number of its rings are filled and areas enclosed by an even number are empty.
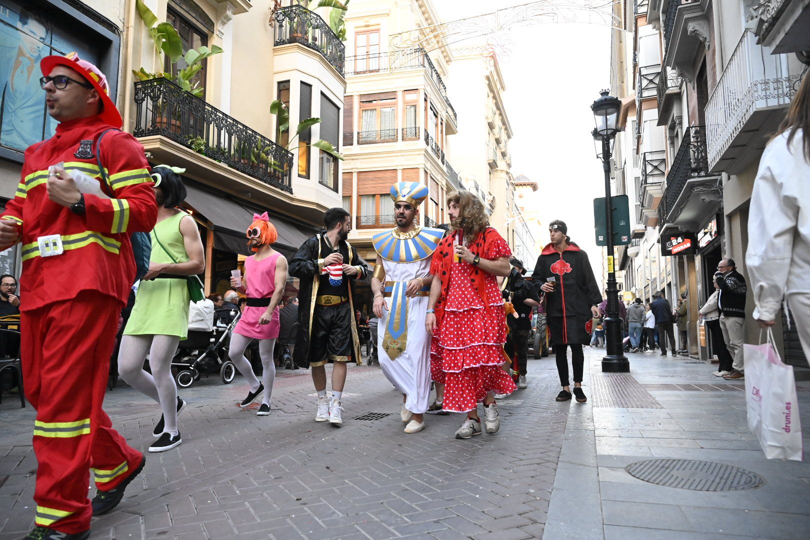
{"type": "MultiPolygon", "coordinates": [[[[723,340],[726,342],[734,364],[731,373],[723,379],[742,379],[745,366],[743,363],[743,342],[745,339],[745,293],[748,287],[743,274],[737,271],[734,259],[720,261],[714,274],[714,283],[720,288],[718,309],[720,310],[720,328],[723,329],[723,340]]],[[[806,278],[806,276],[805,276],[806,278]]]]}

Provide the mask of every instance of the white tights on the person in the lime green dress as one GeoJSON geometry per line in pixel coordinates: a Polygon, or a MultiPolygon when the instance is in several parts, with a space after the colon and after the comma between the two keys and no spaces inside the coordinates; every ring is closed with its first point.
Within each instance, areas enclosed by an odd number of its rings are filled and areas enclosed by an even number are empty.
{"type": "Polygon", "coordinates": [[[165,431],[177,432],[177,385],[172,376],[172,358],[177,351],[178,336],[125,335],[118,352],[118,373],[127,385],[160,403],[165,431]],[[149,355],[151,375],[143,370],[149,355]]]}

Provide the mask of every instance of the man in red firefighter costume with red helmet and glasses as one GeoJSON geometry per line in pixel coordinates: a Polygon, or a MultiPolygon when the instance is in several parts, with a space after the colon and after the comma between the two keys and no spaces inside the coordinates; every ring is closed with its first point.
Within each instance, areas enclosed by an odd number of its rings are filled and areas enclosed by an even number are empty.
{"type": "Polygon", "coordinates": [[[101,404],[135,276],[129,233],[151,231],[157,206],[143,147],[130,134],[104,135],[100,172],[99,135],[122,125],[104,74],[75,53],[45,57],[40,68],[48,113],[60,123],[25,151],[17,193],[0,214],[0,249],[22,244],[20,354],[39,463],[36,528],[26,538],[81,540],[92,514],[109,512],[143,469],[143,454],[113,430],[101,404]],[[106,185],[77,184],[78,172],[106,185]]]}

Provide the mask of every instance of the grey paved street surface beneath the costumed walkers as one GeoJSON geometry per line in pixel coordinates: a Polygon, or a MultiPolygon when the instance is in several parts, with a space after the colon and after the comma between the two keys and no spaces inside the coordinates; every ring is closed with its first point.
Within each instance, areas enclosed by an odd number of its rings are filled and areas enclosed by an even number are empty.
{"type": "MultiPolygon", "coordinates": [[[[453,438],[461,415],[427,415],[424,432],[405,435],[399,396],[376,367],[349,368],[339,428],[313,422],[308,372],[279,371],[269,417],[237,407],[241,377],[203,378],[182,391],[185,442],[147,455],[92,538],[808,538],[810,465],[765,459],[744,385],[654,352],[629,355],[629,375],[605,374],[603,354],[586,347],[586,404],[554,402],[553,362],[530,360],[529,389],[500,402],[501,432],[471,440],[453,438]],[[388,416],[357,419],[369,412],[388,416]],[[764,482],[693,491],[625,470],[656,457],[739,466],[764,482]]],[[[798,386],[808,419],[810,384],[798,386]]],[[[122,386],[105,408],[147,448],[156,404],[122,386]]],[[[9,396],[0,405],[0,540],[32,526],[33,416],[9,396]]]]}

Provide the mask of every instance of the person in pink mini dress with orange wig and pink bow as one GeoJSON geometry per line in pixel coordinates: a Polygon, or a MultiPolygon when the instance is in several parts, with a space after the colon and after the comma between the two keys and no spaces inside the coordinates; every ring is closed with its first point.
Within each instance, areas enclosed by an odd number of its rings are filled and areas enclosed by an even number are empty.
{"type": "Polygon", "coordinates": [[[250,385],[247,397],[239,406],[244,409],[264,393],[256,415],[266,416],[270,415],[275,380],[273,349],[281,328],[279,302],[287,283],[287,259],[271,247],[279,234],[270,223],[267,212],[254,214],[247,236],[248,246],[256,254],[245,259],[245,275],[241,283],[237,278],[231,278],[231,287],[247,294],[247,305],[231,334],[228,356],[250,385]],[[258,339],[258,352],[262,356],[262,381],[258,380],[245,358],[245,349],[254,339],[258,339]]]}

